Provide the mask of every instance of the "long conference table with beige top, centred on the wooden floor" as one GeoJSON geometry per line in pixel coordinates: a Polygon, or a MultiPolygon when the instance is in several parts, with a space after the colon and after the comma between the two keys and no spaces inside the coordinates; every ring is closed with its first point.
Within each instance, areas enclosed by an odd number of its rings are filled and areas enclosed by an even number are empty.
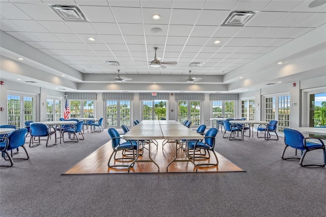
{"type": "MultiPolygon", "coordinates": [[[[159,167],[156,164],[156,162],[151,158],[151,140],[175,140],[175,157],[167,166],[167,172],[169,166],[173,162],[194,162],[187,158],[187,159],[177,159],[177,150],[178,150],[178,140],[202,140],[204,139],[204,136],[197,133],[196,131],[189,129],[188,127],[184,126],[183,124],[174,121],[174,120],[153,120],[153,121],[141,121],[139,124],[132,127],[127,133],[125,133],[122,136],[122,139],[124,140],[137,140],[138,144],[140,140],[148,140],[149,141],[149,159],[138,159],[139,158],[139,145],[137,146],[137,156],[135,159],[129,164],[128,166],[128,172],[130,169],[130,166],[134,165],[135,162],[152,162],[157,166],[158,172],[159,167]]],[[[144,150],[143,150],[144,151],[144,150]]],[[[197,165],[194,164],[194,166],[197,168],[197,165]]]]}

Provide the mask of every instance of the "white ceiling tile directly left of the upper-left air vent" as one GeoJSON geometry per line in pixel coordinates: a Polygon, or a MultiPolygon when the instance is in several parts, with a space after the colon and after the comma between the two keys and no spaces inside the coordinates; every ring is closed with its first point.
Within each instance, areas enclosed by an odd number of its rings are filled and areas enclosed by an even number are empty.
{"type": "Polygon", "coordinates": [[[35,20],[61,20],[51,9],[45,4],[15,4],[27,15],[35,20]]]}

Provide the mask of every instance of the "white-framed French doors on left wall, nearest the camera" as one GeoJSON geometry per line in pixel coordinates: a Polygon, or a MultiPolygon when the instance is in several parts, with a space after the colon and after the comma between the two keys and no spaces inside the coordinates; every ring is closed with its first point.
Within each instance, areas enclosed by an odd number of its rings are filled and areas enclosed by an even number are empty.
{"type": "Polygon", "coordinates": [[[17,129],[25,127],[25,121],[36,121],[37,95],[8,92],[8,124],[17,129]]]}

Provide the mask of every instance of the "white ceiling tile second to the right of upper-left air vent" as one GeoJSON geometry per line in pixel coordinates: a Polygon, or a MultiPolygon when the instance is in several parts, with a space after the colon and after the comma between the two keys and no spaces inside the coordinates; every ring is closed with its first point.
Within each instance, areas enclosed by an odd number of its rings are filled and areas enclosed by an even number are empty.
{"type": "Polygon", "coordinates": [[[111,7],[111,9],[118,23],[143,23],[140,8],[111,7]]]}

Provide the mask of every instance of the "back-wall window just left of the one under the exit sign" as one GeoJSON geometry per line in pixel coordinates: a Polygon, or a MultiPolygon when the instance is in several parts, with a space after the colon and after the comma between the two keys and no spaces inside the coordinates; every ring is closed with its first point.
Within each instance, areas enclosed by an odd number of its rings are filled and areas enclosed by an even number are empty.
{"type": "Polygon", "coordinates": [[[106,101],[106,126],[131,126],[130,100],[106,101]]]}

